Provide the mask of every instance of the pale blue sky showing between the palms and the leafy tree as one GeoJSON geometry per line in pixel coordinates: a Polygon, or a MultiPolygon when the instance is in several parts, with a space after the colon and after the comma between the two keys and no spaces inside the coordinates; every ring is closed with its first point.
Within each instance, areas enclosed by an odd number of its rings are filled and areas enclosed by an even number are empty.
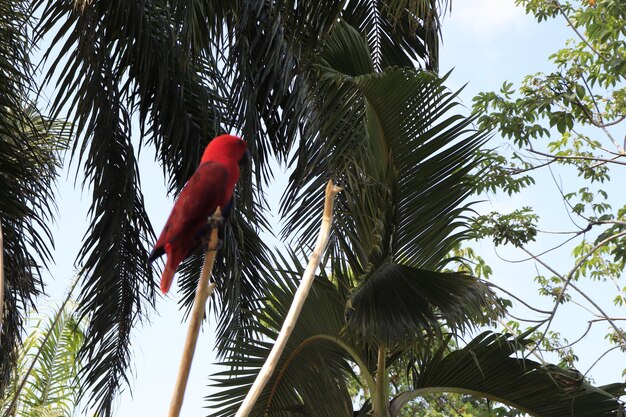
{"type": "MultiPolygon", "coordinates": [[[[534,18],[515,7],[514,0],[452,1],[452,12],[448,12],[443,20],[441,72],[453,70],[447,83],[452,90],[467,84],[460,97],[465,106],[463,111],[468,112],[476,93],[498,90],[504,81],[518,82],[527,74],[548,70],[548,56],[562,47],[569,37],[571,35],[563,21],[537,24],[534,18]]],[[[48,292],[52,304],[59,302],[74,278],[74,257],[88,224],[87,210],[91,196],[88,191],[82,192],[80,187],[75,187],[75,169],[76,166],[69,170],[66,167],[58,184],[59,215],[57,224],[53,226],[56,264],[51,267],[50,277],[46,280],[51,283],[48,292]]],[[[140,172],[147,211],[155,230],[159,232],[169,214],[172,200],[166,196],[163,175],[154,163],[151,149],[142,151],[140,172]]],[[[276,176],[277,182],[269,191],[268,201],[278,201],[284,177],[276,176]],[[276,198],[272,198],[272,195],[276,198]]],[[[547,221],[557,225],[564,216],[563,210],[559,210],[560,199],[547,201],[546,196],[554,196],[554,190],[541,187],[536,189],[534,195],[526,194],[524,199],[489,196],[482,203],[481,210],[538,205],[544,209],[547,221]]],[[[488,244],[480,244],[476,250],[494,267],[494,279],[498,283],[522,297],[536,297],[536,287],[531,285],[535,275],[534,267],[515,264],[513,268],[500,259],[517,259],[520,258],[519,253],[508,250],[496,252],[488,244]]],[[[563,259],[568,259],[567,254],[563,259]]],[[[186,323],[181,322],[182,313],[178,310],[178,294],[177,286],[174,285],[166,297],[159,297],[156,312],[151,315],[150,321],[134,332],[133,382],[131,389],[125,390],[116,405],[120,417],[159,416],[167,410],[186,333],[186,323]]],[[[559,326],[567,326],[567,317],[572,319],[575,316],[566,315],[566,320],[559,322],[559,326]]],[[[203,398],[212,392],[207,387],[208,375],[217,370],[212,365],[214,331],[215,324],[210,323],[204,326],[200,334],[182,416],[206,414],[206,410],[202,410],[206,406],[203,398]]],[[[595,353],[593,346],[585,349],[595,353]]],[[[581,366],[581,370],[586,369],[586,366],[581,366]]],[[[620,379],[610,358],[607,366],[599,366],[594,371],[597,371],[593,373],[597,382],[608,383],[620,379]]]]}

